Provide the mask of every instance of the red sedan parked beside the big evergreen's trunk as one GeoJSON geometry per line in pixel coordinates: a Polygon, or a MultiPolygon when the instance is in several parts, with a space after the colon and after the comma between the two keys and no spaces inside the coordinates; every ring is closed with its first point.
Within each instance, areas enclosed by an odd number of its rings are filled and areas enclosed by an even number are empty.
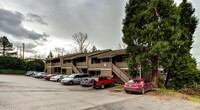
{"type": "Polygon", "coordinates": [[[124,85],[124,90],[128,92],[138,92],[144,94],[146,91],[153,90],[153,85],[143,78],[133,78],[124,85]]]}

